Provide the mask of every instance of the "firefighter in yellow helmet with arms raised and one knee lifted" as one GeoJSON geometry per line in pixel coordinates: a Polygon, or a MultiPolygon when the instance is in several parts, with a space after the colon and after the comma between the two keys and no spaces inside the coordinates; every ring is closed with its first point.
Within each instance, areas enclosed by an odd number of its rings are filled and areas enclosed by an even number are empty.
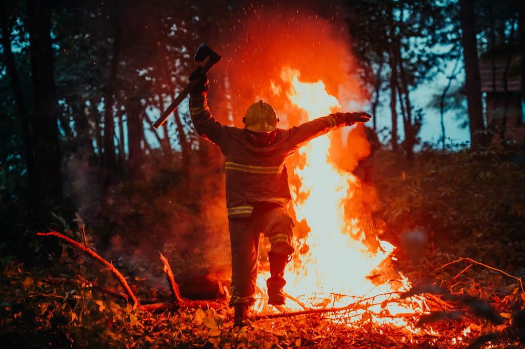
{"type": "Polygon", "coordinates": [[[226,206],[232,250],[234,326],[244,325],[255,302],[259,237],[269,238],[268,303],[285,304],[285,267],[294,252],[293,221],[285,160],[312,138],[335,128],[369,121],[370,115],[334,113],[290,129],[277,127],[274,108],[263,101],[248,107],[244,128],[224,126],[207,105],[209,82],[201,70],[190,75],[200,82],[190,93],[190,114],[196,132],[214,143],[225,157],[226,206]]]}

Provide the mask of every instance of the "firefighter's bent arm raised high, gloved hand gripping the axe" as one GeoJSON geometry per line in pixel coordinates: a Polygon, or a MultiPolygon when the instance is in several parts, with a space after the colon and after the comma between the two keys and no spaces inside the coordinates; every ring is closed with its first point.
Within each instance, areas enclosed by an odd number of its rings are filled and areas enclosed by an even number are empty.
{"type": "Polygon", "coordinates": [[[199,136],[218,145],[223,125],[216,121],[209,111],[207,104],[209,83],[206,74],[197,69],[190,75],[189,79],[190,81],[194,79],[201,81],[190,93],[190,115],[192,117],[193,127],[199,136]]]}

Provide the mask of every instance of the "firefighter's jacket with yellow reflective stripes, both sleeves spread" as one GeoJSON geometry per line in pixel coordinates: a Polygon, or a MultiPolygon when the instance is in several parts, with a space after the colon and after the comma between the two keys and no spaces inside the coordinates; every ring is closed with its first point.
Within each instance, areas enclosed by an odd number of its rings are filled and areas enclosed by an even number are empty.
{"type": "Polygon", "coordinates": [[[278,128],[274,143],[258,147],[249,143],[244,128],[224,126],[212,116],[206,93],[190,95],[190,114],[196,132],[224,154],[228,219],[249,217],[257,202],[288,209],[286,158],[310,139],[346,125],[342,116],[323,116],[289,129],[278,128]]]}

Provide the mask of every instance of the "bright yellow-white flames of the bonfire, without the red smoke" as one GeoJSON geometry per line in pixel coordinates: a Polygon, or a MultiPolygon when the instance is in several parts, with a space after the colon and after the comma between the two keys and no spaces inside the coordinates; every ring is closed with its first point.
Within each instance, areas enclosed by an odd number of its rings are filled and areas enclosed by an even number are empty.
{"type": "MultiPolygon", "coordinates": [[[[322,81],[301,82],[300,72],[288,67],[282,69],[280,76],[283,82],[291,84],[286,95],[304,112],[303,122],[338,111],[339,101],[325,91],[322,81]]],[[[344,317],[345,322],[363,320],[365,316],[370,320],[406,325],[395,315],[413,312],[409,308],[413,304],[394,300],[399,291],[409,289],[409,283],[402,275],[392,279],[393,271],[388,270],[395,248],[377,238],[377,232],[365,231],[366,225],[361,222],[370,217],[363,210],[355,212],[351,205],[362,198],[360,180],[330,161],[331,142],[341,138],[317,137],[287,164],[294,171],[290,186],[297,222],[308,227],[306,234],[296,236],[297,253],[285,276],[287,307],[291,310],[338,308],[362,302],[360,306],[348,308],[351,311],[344,317]]],[[[268,277],[266,271],[258,278],[256,309],[259,311],[268,310],[265,303],[268,277]]],[[[423,304],[416,306],[421,310],[423,304]]]]}

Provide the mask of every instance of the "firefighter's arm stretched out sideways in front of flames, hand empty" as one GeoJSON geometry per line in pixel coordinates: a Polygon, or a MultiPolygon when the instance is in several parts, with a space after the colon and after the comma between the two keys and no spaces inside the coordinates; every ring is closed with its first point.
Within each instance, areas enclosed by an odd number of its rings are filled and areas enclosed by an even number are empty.
{"type": "Polygon", "coordinates": [[[290,129],[290,146],[301,147],[310,139],[322,136],[333,129],[350,126],[355,123],[365,123],[370,120],[370,114],[365,112],[333,113],[322,116],[290,129]]]}

